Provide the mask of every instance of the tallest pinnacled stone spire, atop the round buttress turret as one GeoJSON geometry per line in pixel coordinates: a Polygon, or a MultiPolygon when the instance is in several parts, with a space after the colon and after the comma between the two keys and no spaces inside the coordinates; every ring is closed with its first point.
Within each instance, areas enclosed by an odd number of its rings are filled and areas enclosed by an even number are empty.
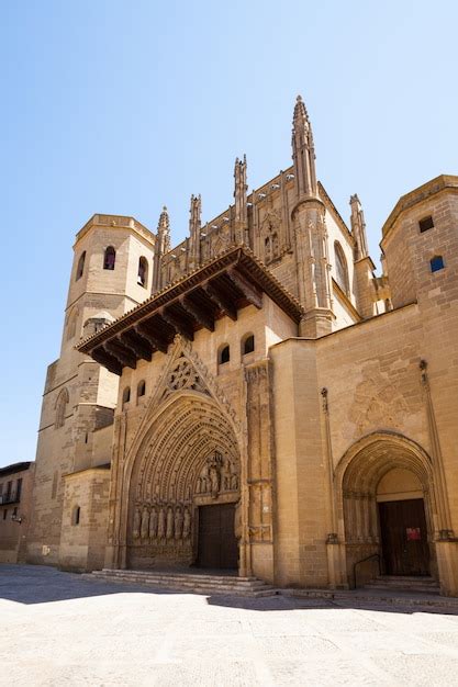
{"type": "Polygon", "coordinates": [[[305,104],[298,95],[292,120],[292,159],[294,160],[295,190],[299,199],[316,196],[315,148],[312,125],[305,104]]]}

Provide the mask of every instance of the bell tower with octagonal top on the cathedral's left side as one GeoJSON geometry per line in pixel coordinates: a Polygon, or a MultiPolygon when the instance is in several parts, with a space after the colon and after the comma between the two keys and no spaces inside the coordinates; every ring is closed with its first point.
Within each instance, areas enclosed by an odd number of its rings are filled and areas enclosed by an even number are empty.
{"type": "Polygon", "coordinates": [[[119,379],[75,350],[81,337],[145,301],[152,291],[155,236],[133,217],[94,215],[78,232],[60,356],[47,370],[36,450],[29,560],[60,564],[65,480],[110,463],[119,379]]]}

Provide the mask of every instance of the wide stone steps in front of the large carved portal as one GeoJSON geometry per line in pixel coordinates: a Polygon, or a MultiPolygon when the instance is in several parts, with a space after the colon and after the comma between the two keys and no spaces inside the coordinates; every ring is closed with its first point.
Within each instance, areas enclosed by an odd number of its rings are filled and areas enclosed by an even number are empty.
{"type": "Polygon", "coordinates": [[[170,592],[189,592],[190,594],[222,594],[252,598],[277,594],[272,586],[256,577],[237,577],[235,575],[210,573],[103,568],[83,574],[81,577],[92,582],[145,585],[170,592]]]}

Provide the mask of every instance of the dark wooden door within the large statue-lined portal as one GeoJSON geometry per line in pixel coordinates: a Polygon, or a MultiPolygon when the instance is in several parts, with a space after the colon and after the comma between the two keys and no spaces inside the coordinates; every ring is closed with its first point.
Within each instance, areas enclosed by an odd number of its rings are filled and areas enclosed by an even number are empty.
{"type": "Polygon", "coordinates": [[[238,544],[234,531],[235,504],[200,506],[199,567],[236,570],[238,544]]]}

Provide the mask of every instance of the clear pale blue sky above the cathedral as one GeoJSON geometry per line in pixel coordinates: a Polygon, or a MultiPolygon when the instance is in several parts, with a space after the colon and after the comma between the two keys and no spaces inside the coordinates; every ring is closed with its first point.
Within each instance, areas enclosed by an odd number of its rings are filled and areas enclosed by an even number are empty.
{"type": "Polygon", "coordinates": [[[3,260],[0,465],[33,460],[46,365],[58,357],[76,232],[96,212],[174,241],[291,164],[294,99],[317,174],[372,257],[400,195],[458,173],[453,0],[0,0],[3,260]]]}

